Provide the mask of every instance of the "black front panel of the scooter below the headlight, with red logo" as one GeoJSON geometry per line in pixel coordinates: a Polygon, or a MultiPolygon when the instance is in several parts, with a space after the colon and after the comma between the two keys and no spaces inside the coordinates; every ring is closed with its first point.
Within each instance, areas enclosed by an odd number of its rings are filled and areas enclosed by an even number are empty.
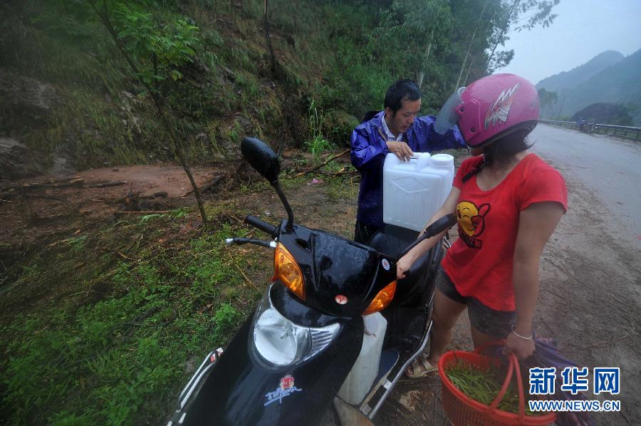
{"type": "MultiPolygon", "coordinates": [[[[309,317],[318,316],[313,308],[296,304],[296,316],[305,308],[309,317]]],[[[363,345],[363,318],[337,317],[340,331],[327,348],[301,363],[278,368],[257,359],[250,347],[253,320],[252,314],[202,379],[202,387],[185,409],[183,425],[316,424],[363,345]]]]}

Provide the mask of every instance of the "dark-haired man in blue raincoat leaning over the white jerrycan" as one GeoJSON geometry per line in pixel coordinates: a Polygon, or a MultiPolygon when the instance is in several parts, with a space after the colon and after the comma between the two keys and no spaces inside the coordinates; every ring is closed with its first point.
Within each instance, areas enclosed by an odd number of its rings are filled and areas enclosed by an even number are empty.
{"type": "Polygon", "coordinates": [[[434,130],[434,115],[417,117],[421,90],[412,80],[398,80],[385,93],[385,110],[352,132],[351,160],[360,171],[360,192],[354,240],[365,243],[382,228],[382,170],[385,155],[393,152],[409,161],[416,152],[466,147],[454,126],[441,135],[434,130]]]}

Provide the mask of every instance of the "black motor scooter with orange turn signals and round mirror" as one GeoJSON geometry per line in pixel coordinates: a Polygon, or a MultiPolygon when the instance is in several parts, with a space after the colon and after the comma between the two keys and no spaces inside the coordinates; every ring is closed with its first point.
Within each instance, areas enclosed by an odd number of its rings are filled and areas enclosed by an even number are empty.
{"type": "Polygon", "coordinates": [[[273,283],[229,346],[207,355],[180,393],[168,425],[330,425],[337,417],[372,419],[427,343],[444,246],[434,246],[400,281],[396,261],[422,239],[452,227],[456,217],[434,222],[420,240],[415,231],[387,225],[368,245],[309,229],[293,222],[273,150],[245,138],[241,152],[269,180],[288,219],[274,227],[248,216],[245,222],[272,240],[226,242],[273,249],[273,283]],[[363,356],[368,333],[363,318],[375,312],[387,320],[377,374],[363,398],[348,404],[337,393],[363,356]]]}

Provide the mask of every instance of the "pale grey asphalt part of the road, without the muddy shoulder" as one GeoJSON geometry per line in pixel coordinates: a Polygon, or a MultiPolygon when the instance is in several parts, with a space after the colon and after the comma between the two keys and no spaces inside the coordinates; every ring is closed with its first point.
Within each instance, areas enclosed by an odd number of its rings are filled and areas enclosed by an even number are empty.
{"type": "Polygon", "coordinates": [[[538,125],[530,140],[535,142],[534,152],[550,160],[566,179],[583,182],[615,214],[612,220],[617,223],[609,227],[616,233],[613,237],[641,247],[641,142],[550,125],[538,125]]]}

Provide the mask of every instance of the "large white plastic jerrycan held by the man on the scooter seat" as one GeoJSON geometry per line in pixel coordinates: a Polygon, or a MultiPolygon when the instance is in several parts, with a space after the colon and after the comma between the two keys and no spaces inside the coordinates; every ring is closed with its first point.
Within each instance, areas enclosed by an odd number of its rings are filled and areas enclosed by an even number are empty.
{"type": "Polygon", "coordinates": [[[454,180],[454,157],[415,152],[409,162],[389,153],[383,165],[383,222],[422,231],[454,180]]]}

